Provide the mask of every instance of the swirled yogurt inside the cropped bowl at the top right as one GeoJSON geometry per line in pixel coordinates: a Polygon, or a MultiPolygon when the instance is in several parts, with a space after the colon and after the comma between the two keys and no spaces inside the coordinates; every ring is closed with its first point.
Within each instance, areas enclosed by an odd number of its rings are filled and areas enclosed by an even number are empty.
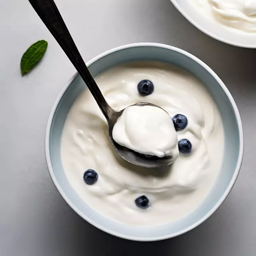
{"type": "Polygon", "coordinates": [[[188,0],[205,18],[236,31],[256,32],[256,0],[188,0]]]}

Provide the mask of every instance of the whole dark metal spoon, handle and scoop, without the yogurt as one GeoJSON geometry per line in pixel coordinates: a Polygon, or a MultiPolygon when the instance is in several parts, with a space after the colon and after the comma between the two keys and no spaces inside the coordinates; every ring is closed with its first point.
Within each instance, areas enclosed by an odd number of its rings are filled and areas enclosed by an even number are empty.
{"type": "MultiPolygon", "coordinates": [[[[145,157],[142,154],[132,151],[131,149],[125,148],[113,140],[112,130],[117,121],[117,119],[122,115],[123,110],[116,111],[112,109],[102,93],[97,86],[95,80],[93,79],[89,69],[86,67],[84,60],[82,59],[80,53],[78,52],[76,45],[68,32],[60,12],[53,0],[28,0],[33,6],[41,20],[44,22],[45,26],[52,33],[56,41],[60,44],[62,50],[66,53],[69,60],[72,62],[77,72],[83,78],[88,89],[92,93],[92,96],[96,100],[100,110],[108,121],[108,134],[109,140],[112,146],[116,150],[117,154],[123,157],[125,160],[132,164],[136,164],[142,167],[149,168],[159,168],[172,164],[172,157],[156,157],[151,158],[145,157]]],[[[134,105],[138,106],[155,106],[151,103],[137,103],[134,105]]],[[[160,108],[160,107],[158,107],[160,108]]]]}

